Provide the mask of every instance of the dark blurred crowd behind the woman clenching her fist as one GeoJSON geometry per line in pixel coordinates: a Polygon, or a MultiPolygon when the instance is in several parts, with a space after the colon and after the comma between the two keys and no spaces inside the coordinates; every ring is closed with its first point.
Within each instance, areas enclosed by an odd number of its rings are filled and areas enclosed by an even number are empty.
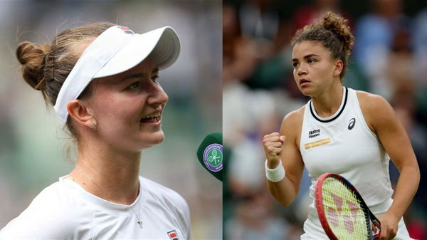
{"type": "Polygon", "coordinates": [[[262,138],[309,100],[292,76],[290,40],[326,11],[349,19],[355,36],[344,85],[389,100],[408,132],[421,182],[404,219],[413,239],[427,239],[427,3],[401,0],[223,1],[224,239],[300,239],[310,177],[290,207],[275,202],[262,138]]]}

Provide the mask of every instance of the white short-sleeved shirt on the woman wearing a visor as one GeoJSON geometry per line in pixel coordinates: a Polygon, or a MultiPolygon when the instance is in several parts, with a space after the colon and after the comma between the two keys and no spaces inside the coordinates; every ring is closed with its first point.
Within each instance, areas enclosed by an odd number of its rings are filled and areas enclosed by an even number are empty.
{"type": "Polygon", "coordinates": [[[131,205],[107,202],[61,177],[1,229],[0,239],[191,239],[189,207],[144,177],[131,205]]]}

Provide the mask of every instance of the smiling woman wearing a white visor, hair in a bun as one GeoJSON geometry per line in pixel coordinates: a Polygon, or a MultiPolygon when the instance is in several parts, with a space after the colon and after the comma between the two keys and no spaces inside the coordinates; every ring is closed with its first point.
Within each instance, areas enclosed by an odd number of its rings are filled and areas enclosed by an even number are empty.
{"type": "Polygon", "coordinates": [[[179,49],[170,27],[137,34],[110,23],[68,29],[51,46],[19,44],[23,79],[65,122],[78,157],[0,239],[191,239],[185,200],[139,176],[141,151],[164,139],[159,70],[179,49]]]}

